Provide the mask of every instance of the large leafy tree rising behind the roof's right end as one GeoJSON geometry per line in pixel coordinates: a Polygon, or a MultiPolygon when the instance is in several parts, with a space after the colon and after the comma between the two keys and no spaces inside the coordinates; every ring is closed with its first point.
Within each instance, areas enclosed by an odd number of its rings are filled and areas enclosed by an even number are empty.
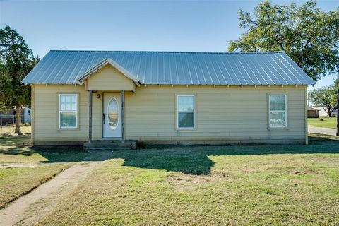
{"type": "Polygon", "coordinates": [[[254,14],[239,12],[246,32],[229,43],[229,51],[284,51],[314,81],[335,73],[339,66],[339,8],[321,11],[316,1],[301,6],[263,1],[254,14]]]}

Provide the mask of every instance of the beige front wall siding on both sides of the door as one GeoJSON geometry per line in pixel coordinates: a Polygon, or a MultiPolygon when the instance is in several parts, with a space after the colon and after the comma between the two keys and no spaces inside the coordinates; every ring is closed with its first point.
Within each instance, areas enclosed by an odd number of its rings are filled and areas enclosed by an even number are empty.
{"type": "MultiPolygon", "coordinates": [[[[93,77],[94,78],[94,77],[93,77]]],[[[102,82],[103,84],[103,82],[102,82]]],[[[126,92],[125,138],[139,141],[306,142],[305,85],[198,86],[142,85],[126,92]],[[268,95],[287,95],[287,129],[268,128],[268,95]],[[176,95],[194,94],[196,128],[176,129],[176,95]]],[[[34,85],[36,145],[88,141],[85,85],[34,85]],[[59,129],[59,93],[78,93],[78,129],[59,129]]],[[[93,140],[102,138],[102,92],[93,94],[93,140]],[[97,99],[96,95],[101,98],[97,99]]]]}

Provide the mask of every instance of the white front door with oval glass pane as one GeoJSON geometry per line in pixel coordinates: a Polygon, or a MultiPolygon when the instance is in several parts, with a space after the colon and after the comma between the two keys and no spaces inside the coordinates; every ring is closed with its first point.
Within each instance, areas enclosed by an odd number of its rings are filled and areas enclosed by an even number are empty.
{"type": "Polygon", "coordinates": [[[104,93],[103,138],[121,138],[121,93],[104,93]]]}

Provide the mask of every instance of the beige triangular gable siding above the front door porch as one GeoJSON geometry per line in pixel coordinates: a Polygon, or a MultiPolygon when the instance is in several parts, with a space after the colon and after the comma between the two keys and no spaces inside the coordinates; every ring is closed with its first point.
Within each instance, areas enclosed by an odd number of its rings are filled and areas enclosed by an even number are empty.
{"type": "Polygon", "coordinates": [[[87,90],[136,90],[136,85],[131,79],[110,65],[103,66],[102,69],[93,73],[87,79],[86,85],[87,90]]]}

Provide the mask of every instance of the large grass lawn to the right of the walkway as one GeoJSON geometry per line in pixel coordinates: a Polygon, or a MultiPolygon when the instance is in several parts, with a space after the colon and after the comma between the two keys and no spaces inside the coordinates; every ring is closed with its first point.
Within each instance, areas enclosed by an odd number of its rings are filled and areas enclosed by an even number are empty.
{"type": "Polygon", "coordinates": [[[39,225],[339,225],[339,139],[114,151],[39,225]]]}

